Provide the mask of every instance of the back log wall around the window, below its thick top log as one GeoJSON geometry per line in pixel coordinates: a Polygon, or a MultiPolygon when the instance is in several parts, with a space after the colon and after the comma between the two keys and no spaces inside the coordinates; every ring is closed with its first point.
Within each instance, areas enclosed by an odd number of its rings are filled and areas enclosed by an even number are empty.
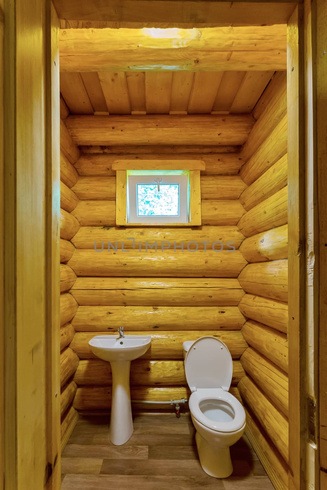
{"type": "MultiPolygon", "coordinates": [[[[71,216],[80,227],[70,238],[75,249],[67,265],[77,276],[70,294],[78,303],[71,323],[75,336],[70,348],[80,358],[74,375],[77,386],[73,406],[77,410],[110,409],[109,363],[97,359],[88,341],[96,334],[115,333],[124,325],[126,334],[151,333],[152,343],[131,368],[132,398],[170,400],[187,397],[182,343],[204,335],[221,338],[234,360],[232,390],[245,375],[240,357],[247,347],[241,328],[245,317],[238,308],[244,291],[237,276],[247,265],[239,246],[244,235],[237,222],[246,213],[239,196],[247,188],[237,175],[242,164],[239,153],[176,154],[153,147],[151,152],[123,154],[82,153],[74,164],[79,173],[71,187],[78,202],[71,216]],[[202,226],[174,228],[116,227],[116,177],[112,164],[117,159],[202,159],[202,226]],[[135,238],[135,248],[132,240],[135,238]],[[157,242],[158,249],[147,243],[157,242]],[[185,249],[174,250],[174,242],[185,249]],[[188,242],[197,242],[190,246],[188,242]],[[220,241],[216,252],[210,244],[220,241]],[[103,242],[103,251],[101,249],[103,242]],[[118,249],[107,249],[108,242],[118,249]],[[124,242],[124,251],[121,244],[124,242]],[[160,244],[170,242],[170,249],[160,244]],[[235,251],[228,250],[233,242],[235,251]],[[207,249],[206,249],[207,248],[207,249]]],[[[186,151],[186,152],[185,152],[186,151]]],[[[72,202],[72,199],[69,199],[72,202]]],[[[68,247],[63,250],[68,256],[68,247]]],[[[69,279],[67,279],[69,280],[69,279]]],[[[73,391],[73,390],[72,390],[73,391]]],[[[135,408],[145,408],[136,404],[135,408]]],[[[147,407],[149,409],[149,407],[147,407]]],[[[164,408],[164,407],[163,407],[164,408]]]]}

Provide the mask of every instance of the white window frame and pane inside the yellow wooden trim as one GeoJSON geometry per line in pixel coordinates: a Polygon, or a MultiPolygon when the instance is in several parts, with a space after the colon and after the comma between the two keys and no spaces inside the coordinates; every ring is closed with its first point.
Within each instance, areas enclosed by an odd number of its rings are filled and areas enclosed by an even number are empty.
{"type": "Polygon", "coordinates": [[[128,175],[129,223],[187,223],[189,175],[128,175]]]}

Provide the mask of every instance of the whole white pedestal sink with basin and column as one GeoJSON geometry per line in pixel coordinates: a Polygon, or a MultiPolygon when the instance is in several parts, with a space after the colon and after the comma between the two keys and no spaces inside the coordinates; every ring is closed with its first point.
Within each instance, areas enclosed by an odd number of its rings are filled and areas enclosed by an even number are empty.
{"type": "Polygon", "coordinates": [[[130,361],[142,356],[151,345],[151,335],[96,335],[90,340],[92,352],[111,364],[112,397],[109,424],[110,441],[121,446],[133,434],[129,392],[130,361]]]}

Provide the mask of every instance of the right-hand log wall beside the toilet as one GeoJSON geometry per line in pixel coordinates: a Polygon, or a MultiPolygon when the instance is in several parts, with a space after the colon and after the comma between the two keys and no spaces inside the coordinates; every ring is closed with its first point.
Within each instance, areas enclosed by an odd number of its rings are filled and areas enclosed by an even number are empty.
{"type": "Polygon", "coordinates": [[[257,119],[241,156],[248,187],[238,221],[249,264],[238,280],[249,347],[241,356],[247,375],[238,388],[246,406],[246,432],[276,489],[288,488],[288,275],[286,73],[276,73],[253,111],[257,119]]]}

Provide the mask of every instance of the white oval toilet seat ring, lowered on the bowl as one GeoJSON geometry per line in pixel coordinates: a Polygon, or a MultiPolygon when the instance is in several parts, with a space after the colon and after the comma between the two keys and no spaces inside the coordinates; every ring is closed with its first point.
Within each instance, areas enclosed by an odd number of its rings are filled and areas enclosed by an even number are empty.
{"type": "Polygon", "coordinates": [[[200,389],[193,392],[189,399],[189,408],[192,414],[198,422],[215,432],[230,433],[237,432],[245,425],[245,411],[241,403],[231,393],[220,389],[200,389]],[[212,400],[221,400],[229,405],[233,412],[234,418],[228,422],[220,422],[212,420],[206,417],[201,411],[201,402],[207,401],[208,404],[212,400]]]}

